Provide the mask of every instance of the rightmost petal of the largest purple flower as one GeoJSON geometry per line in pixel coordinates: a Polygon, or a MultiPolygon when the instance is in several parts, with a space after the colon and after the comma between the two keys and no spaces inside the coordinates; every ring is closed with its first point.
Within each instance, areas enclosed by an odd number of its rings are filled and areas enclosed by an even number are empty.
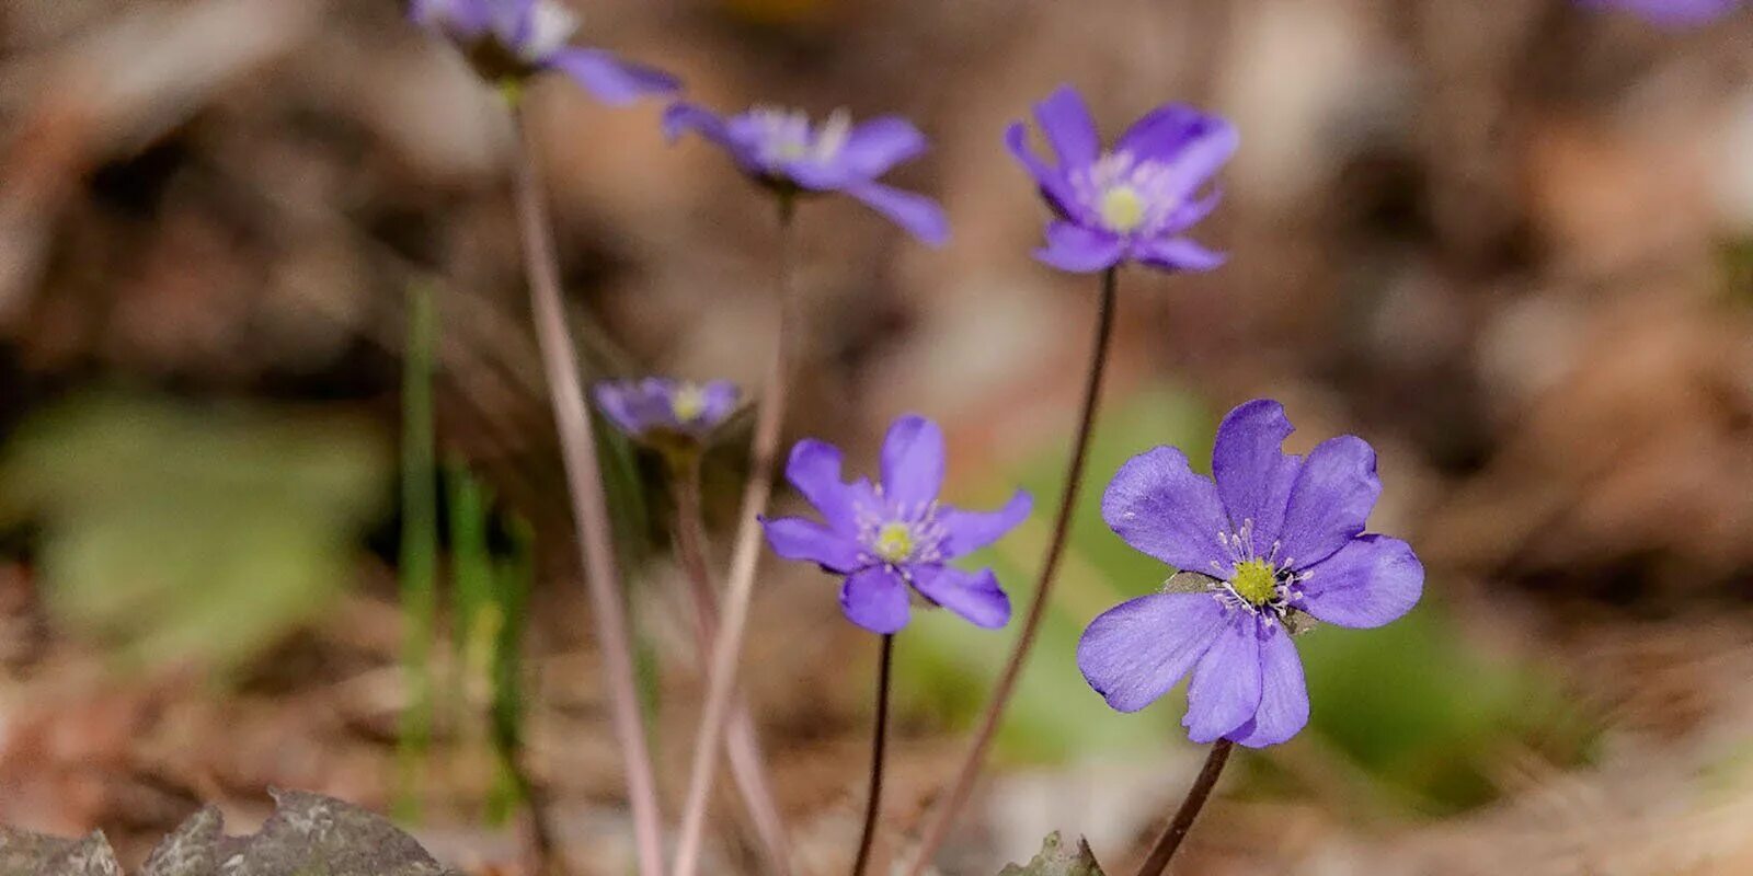
{"type": "Polygon", "coordinates": [[[1336,627],[1380,627],[1423,594],[1423,564],[1399,538],[1353,538],[1306,571],[1299,608],[1336,627]]]}

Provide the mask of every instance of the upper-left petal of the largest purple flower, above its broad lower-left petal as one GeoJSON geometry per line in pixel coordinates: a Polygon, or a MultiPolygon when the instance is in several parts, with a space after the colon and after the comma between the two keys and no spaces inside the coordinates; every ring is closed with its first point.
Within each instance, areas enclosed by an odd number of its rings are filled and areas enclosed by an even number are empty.
{"type": "Polygon", "coordinates": [[[1127,545],[1178,569],[1210,573],[1229,550],[1218,541],[1227,531],[1217,485],[1194,475],[1187,454],[1157,447],[1115,471],[1101,498],[1101,517],[1127,545]]]}

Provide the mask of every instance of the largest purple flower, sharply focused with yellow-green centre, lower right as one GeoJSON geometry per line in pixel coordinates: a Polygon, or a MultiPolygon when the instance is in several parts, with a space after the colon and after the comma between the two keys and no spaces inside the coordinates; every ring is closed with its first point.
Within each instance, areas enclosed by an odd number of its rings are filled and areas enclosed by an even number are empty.
{"type": "Polygon", "coordinates": [[[1341,436],[1306,459],[1285,456],[1290,431],[1276,401],[1248,401],[1218,427],[1215,482],[1159,447],[1108,485],[1108,526],[1182,569],[1164,592],[1120,603],[1083,631],[1078,668],[1115,710],[1148,706],[1190,671],[1182,724],[1196,743],[1278,745],[1309,717],[1287,627],[1304,613],[1380,627],[1418,603],[1423,566],[1411,547],[1364,534],[1381,494],[1376,452],[1341,436]]]}

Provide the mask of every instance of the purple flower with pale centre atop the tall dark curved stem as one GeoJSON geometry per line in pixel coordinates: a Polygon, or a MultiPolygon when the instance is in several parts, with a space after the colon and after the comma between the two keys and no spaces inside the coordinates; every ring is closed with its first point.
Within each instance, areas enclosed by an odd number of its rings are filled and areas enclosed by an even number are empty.
{"type": "Polygon", "coordinates": [[[1057,214],[1047,226],[1047,249],[1034,258],[1078,273],[1124,261],[1185,272],[1224,263],[1222,254],[1183,235],[1217,207],[1218,193],[1203,189],[1236,152],[1236,128],[1227,121],[1167,103],[1132,123],[1103,152],[1096,121],[1071,86],[1036,103],[1034,119],[1057,165],[1029,149],[1024,123],[1004,131],[1004,144],[1057,214]]]}

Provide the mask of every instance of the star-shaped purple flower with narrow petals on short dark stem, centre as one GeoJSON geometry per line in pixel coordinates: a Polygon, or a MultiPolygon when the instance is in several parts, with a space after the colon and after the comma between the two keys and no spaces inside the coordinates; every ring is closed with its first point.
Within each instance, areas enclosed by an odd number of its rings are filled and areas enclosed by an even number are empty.
{"type": "Polygon", "coordinates": [[[908,589],[931,604],[997,629],[1010,622],[1010,597],[992,569],[962,571],[947,561],[978,550],[1029,517],[1017,491],[997,512],[964,512],[938,501],[943,485],[943,433],[924,417],[901,417],[882,445],[882,484],[840,480],[840,450],[803,440],[791,450],[785,478],[822,522],[763,519],[768,543],[785,559],[803,559],[845,575],[840,606],[871,632],[906,625],[908,589]]]}

